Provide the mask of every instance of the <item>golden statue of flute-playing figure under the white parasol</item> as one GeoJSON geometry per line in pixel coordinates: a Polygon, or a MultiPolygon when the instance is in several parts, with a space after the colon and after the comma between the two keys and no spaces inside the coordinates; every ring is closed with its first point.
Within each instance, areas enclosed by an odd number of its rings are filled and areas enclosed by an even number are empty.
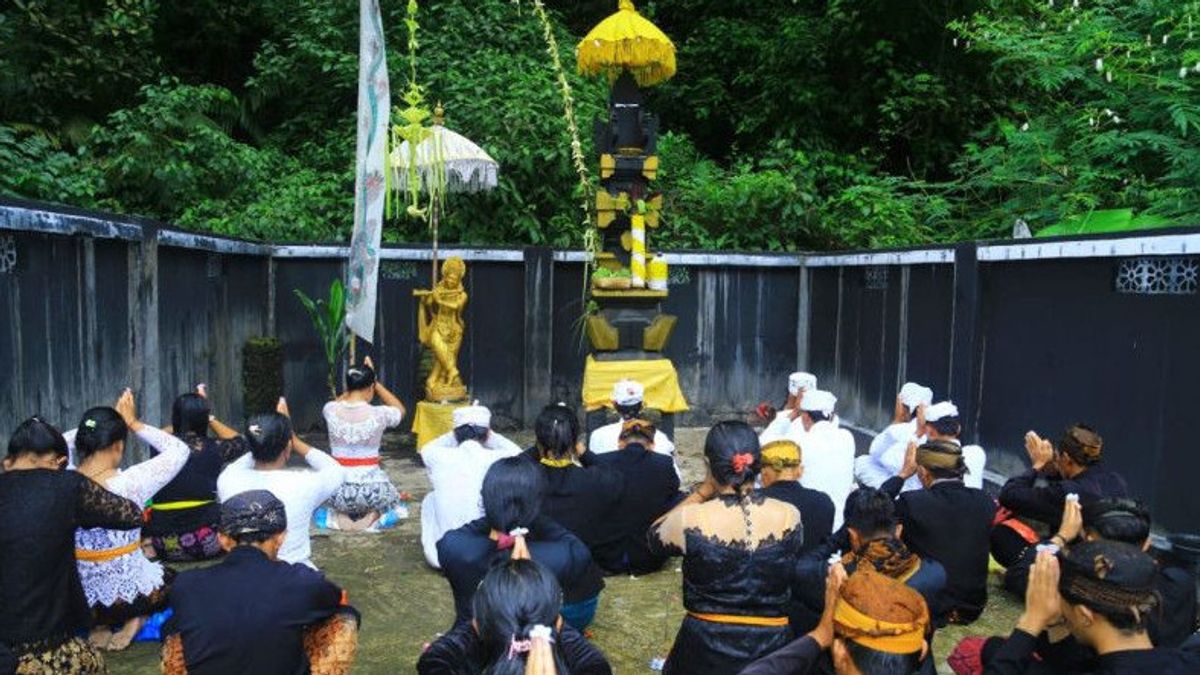
{"type": "Polygon", "coordinates": [[[458,401],[467,398],[467,387],[458,374],[458,350],[466,324],[462,310],[467,306],[467,291],[462,280],[467,263],[462,258],[446,258],[442,263],[442,280],[432,291],[413,291],[421,299],[416,309],[416,336],[433,352],[433,369],[425,381],[425,398],[430,401],[458,401]]]}

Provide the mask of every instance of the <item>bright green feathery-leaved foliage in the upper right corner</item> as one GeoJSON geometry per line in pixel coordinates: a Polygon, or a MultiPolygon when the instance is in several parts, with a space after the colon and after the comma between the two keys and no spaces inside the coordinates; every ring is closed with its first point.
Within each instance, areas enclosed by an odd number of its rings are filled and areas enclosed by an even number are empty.
{"type": "Polygon", "coordinates": [[[954,24],[1008,90],[955,165],[985,231],[1121,207],[1200,213],[1194,16],[1195,2],[1091,0],[954,24]]]}

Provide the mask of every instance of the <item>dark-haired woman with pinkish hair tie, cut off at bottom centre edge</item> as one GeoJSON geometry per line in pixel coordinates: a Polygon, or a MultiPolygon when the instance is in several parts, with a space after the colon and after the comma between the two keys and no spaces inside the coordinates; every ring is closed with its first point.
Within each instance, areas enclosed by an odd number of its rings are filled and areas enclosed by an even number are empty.
{"type": "Polygon", "coordinates": [[[439,637],[416,662],[419,675],[612,675],[604,653],[559,611],[563,591],[532,560],[493,567],[472,601],[474,619],[439,637]]]}

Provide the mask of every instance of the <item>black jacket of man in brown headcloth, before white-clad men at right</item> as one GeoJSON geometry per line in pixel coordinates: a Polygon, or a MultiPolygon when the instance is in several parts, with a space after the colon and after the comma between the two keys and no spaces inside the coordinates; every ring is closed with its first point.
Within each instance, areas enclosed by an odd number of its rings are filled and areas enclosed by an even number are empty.
{"type": "MultiPolygon", "coordinates": [[[[881,489],[895,495],[902,486],[904,480],[894,476],[881,489]]],[[[960,621],[974,621],[988,604],[988,555],[995,514],[991,497],[962,480],[938,480],[896,500],[905,543],[922,558],[934,558],[946,568],[946,589],[935,605],[955,611],[960,621]]]]}

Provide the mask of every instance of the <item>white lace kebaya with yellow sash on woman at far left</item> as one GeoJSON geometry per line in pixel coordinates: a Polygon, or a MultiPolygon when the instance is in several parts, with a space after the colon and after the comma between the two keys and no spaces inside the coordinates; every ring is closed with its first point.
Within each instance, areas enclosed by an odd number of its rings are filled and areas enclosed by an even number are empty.
{"type": "MultiPolygon", "coordinates": [[[[191,450],[187,443],[150,425],[144,424],[136,434],[157,450],[158,455],[119,471],[104,482],[104,488],[132,502],[144,504],[184,468],[191,450]]],[[[74,434],[70,434],[70,437],[73,441],[74,434]]],[[[72,447],[72,454],[73,450],[72,447]]],[[[142,528],[76,530],[76,549],[85,551],[128,549],[127,552],[112,560],[76,561],[89,607],[112,607],[118,602],[132,603],[138,596],[149,596],[163,585],[162,566],[148,560],[142,552],[142,528]]]]}

